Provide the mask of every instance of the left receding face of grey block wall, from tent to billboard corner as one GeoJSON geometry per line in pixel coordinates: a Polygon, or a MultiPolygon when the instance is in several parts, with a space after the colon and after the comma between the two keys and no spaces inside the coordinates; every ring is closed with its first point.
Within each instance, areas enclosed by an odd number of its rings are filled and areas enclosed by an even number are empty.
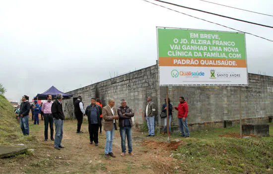
{"type": "MultiPolygon", "coordinates": [[[[113,98],[116,101],[115,107],[120,106],[120,100],[126,99],[128,106],[132,107],[135,112],[133,121],[136,124],[143,123],[144,111],[148,96],[151,96],[155,104],[157,104],[157,67],[147,67],[129,74],[118,76],[106,81],[81,87],[67,93],[74,97],[82,96],[84,108],[90,104],[91,97],[99,97],[102,100],[102,105],[108,104],[108,99],[113,98]]],[[[73,112],[73,99],[64,100],[67,107],[64,108],[66,117],[71,117],[73,112]]]]}

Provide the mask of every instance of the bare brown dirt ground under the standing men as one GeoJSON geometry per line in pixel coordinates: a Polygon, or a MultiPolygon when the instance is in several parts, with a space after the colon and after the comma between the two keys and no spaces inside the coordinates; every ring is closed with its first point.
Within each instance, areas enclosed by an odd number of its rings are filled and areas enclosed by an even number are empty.
{"type": "MultiPolygon", "coordinates": [[[[30,120],[30,124],[33,122],[30,120]]],[[[21,155],[8,159],[0,159],[0,173],[74,173],[74,174],[172,174],[184,173],[181,162],[171,154],[178,143],[167,143],[166,136],[145,137],[146,132],[133,130],[133,153],[121,157],[121,137],[119,130],[115,131],[113,153],[116,158],[105,159],[105,131],[99,134],[99,146],[89,144],[88,125],[82,125],[84,133],[76,133],[76,120],[65,120],[62,144],[64,149],[54,149],[50,139],[44,142],[44,121],[40,125],[30,127],[30,135],[36,140],[26,145],[34,149],[33,155],[21,155]],[[165,141],[165,142],[164,142],[165,141]]],[[[50,133],[49,133],[50,135],[50,133]]],[[[50,137],[49,137],[50,138],[50,137]]],[[[127,143],[127,142],[126,142],[127,143]]],[[[126,144],[127,147],[127,144],[126,144]]]]}

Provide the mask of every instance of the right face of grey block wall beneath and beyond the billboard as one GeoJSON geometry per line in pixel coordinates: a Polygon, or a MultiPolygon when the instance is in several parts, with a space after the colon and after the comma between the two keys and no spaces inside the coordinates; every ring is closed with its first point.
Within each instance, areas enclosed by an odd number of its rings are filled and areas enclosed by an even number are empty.
{"type": "MultiPolygon", "coordinates": [[[[259,118],[273,113],[273,77],[248,74],[249,86],[241,87],[242,118],[259,118]]],[[[239,119],[239,87],[169,87],[169,97],[178,106],[184,96],[189,105],[188,123],[239,119]]],[[[160,87],[160,104],[166,87],[160,87]]],[[[177,123],[177,111],[173,122],[177,123]]]]}

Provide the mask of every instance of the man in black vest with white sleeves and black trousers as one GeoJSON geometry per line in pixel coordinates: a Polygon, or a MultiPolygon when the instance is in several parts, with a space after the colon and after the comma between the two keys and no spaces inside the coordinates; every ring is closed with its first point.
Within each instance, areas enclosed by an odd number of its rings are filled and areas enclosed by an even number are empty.
{"type": "Polygon", "coordinates": [[[81,96],[78,96],[78,99],[74,102],[74,113],[77,119],[77,133],[83,133],[80,131],[80,127],[82,124],[83,115],[85,115],[84,109],[83,109],[83,103],[81,96]]]}

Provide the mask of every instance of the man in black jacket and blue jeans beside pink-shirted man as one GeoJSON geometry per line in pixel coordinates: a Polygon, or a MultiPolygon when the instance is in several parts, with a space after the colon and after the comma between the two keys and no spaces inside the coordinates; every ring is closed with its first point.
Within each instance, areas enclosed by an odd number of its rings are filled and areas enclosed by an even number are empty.
{"type": "Polygon", "coordinates": [[[55,141],[54,141],[54,148],[60,150],[60,148],[64,148],[62,146],[62,139],[63,139],[63,133],[64,133],[64,119],[65,115],[63,112],[63,105],[62,105],[62,99],[63,95],[62,93],[58,93],[56,95],[56,100],[52,103],[51,106],[51,112],[53,115],[53,121],[55,124],[55,141]]]}

